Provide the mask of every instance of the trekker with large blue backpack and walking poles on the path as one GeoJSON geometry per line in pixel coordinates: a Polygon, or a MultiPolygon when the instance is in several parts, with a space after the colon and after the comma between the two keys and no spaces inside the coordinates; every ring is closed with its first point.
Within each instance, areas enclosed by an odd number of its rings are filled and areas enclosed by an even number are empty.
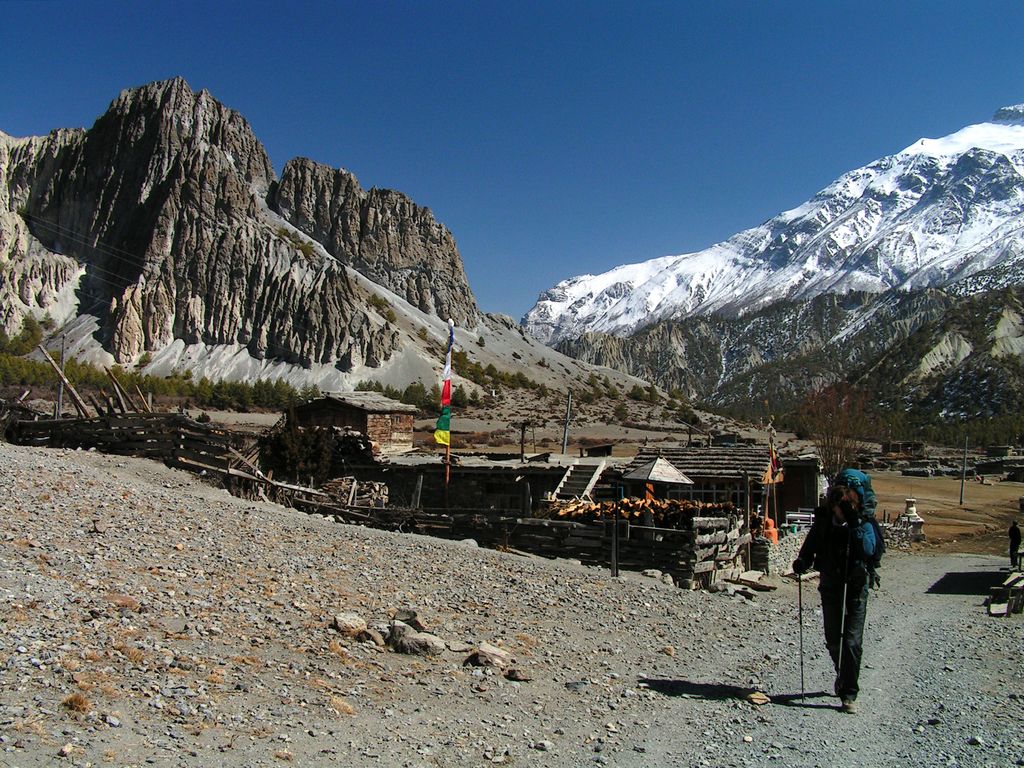
{"type": "Polygon", "coordinates": [[[836,695],[847,713],[856,712],[867,590],[878,584],[873,566],[882,543],[874,506],[868,476],[844,469],[833,480],[824,506],[814,510],[811,529],[793,563],[798,574],[812,566],[820,573],[825,647],[836,668],[836,695]]]}

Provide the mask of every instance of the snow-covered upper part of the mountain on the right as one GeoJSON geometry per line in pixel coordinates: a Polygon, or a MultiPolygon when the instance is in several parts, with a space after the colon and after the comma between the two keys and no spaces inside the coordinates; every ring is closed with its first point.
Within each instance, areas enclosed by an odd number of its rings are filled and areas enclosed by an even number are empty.
{"type": "Polygon", "coordinates": [[[1024,104],[844,174],[807,203],[696,253],[562,281],[523,317],[547,343],[782,299],[1024,282],[1024,104]]]}

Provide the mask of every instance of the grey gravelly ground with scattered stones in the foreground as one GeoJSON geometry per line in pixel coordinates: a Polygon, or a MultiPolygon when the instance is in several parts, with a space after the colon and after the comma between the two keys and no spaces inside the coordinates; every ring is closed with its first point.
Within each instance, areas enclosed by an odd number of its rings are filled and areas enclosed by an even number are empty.
{"type": "Polygon", "coordinates": [[[844,715],[812,583],[802,698],[788,581],[613,580],[86,452],[0,443],[0,490],[5,767],[1024,765],[1024,625],[985,614],[993,556],[888,556],[844,715]],[[439,652],[378,644],[402,609],[439,652]],[[481,643],[514,662],[467,665],[481,643]]]}

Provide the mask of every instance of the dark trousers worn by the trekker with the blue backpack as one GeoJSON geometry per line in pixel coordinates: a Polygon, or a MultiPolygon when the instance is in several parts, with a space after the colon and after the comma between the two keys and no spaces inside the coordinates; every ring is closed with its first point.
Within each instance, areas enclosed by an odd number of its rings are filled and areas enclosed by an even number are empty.
{"type": "Polygon", "coordinates": [[[831,656],[838,673],[836,695],[840,698],[856,698],[860,686],[860,658],[864,645],[864,620],[867,617],[867,583],[852,580],[846,591],[846,606],[843,605],[843,583],[822,582],[818,586],[821,594],[821,613],[824,618],[825,647],[831,656]],[[843,612],[846,611],[846,621],[843,612]],[[842,627],[843,664],[840,666],[840,628],[842,627]]]}

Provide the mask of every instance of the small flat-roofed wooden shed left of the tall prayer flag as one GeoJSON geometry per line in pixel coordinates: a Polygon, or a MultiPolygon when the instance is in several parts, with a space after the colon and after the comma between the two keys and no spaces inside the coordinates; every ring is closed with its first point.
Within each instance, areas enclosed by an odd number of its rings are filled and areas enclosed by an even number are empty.
{"type": "Polygon", "coordinates": [[[379,392],[329,392],[293,410],[299,427],[338,427],[361,432],[383,454],[413,450],[416,407],[379,392]]]}

